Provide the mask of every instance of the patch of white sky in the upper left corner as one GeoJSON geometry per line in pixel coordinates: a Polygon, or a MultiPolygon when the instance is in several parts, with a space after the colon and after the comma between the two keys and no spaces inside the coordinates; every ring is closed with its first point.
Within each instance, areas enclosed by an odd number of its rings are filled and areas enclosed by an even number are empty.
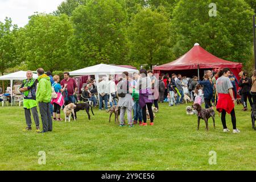
{"type": "Polygon", "coordinates": [[[52,13],[64,0],[0,0],[0,21],[11,18],[13,24],[23,27],[28,23],[28,16],[39,13],[52,13]]]}

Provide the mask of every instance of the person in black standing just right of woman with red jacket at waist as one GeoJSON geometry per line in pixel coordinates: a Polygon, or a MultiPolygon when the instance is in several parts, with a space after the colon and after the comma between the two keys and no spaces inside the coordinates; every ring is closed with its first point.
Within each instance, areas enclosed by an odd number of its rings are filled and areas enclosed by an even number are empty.
{"type": "Polygon", "coordinates": [[[251,101],[251,94],[250,94],[251,78],[247,77],[246,72],[243,72],[243,77],[239,81],[238,86],[241,87],[241,94],[242,94],[242,98],[243,98],[243,111],[246,111],[247,110],[247,97],[250,102],[250,106],[251,107],[253,106],[253,101],[251,101]]]}

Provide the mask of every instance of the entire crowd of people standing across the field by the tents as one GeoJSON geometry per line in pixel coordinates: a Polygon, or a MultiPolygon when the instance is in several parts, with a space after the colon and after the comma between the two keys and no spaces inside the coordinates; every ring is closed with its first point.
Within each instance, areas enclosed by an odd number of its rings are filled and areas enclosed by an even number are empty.
{"type": "MultiPolygon", "coordinates": [[[[64,79],[51,72],[44,73],[42,68],[37,70],[38,78],[33,78],[31,71],[27,71],[27,79],[22,82],[20,92],[24,95],[23,107],[27,127],[31,130],[31,112],[35,121],[36,131],[45,133],[52,131],[52,120],[63,121],[60,117],[61,108],[65,101],[77,102],[76,81],[65,72],[64,79]],[[43,129],[40,131],[39,107],[43,129]]],[[[92,102],[94,107],[102,110],[109,109],[109,105],[120,107],[119,126],[125,126],[125,113],[129,127],[138,124],[147,125],[147,115],[150,125],[154,125],[154,114],[152,106],[159,109],[159,102],[167,101],[169,106],[183,104],[185,94],[194,103],[202,105],[205,109],[216,106],[221,113],[221,121],[224,132],[229,131],[226,127],[225,116],[230,114],[233,123],[233,133],[240,133],[236,128],[236,114],[234,101],[237,94],[241,96],[243,110],[247,110],[247,99],[250,106],[256,104],[256,71],[250,78],[246,72],[239,74],[239,81],[228,68],[218,72],[205,71],[204,77],[200,80],[197,76],[192,78],[182,77],[180,74],[171,76],[163,74],[156,76],[151,70],[141,69],[139,73],[129,74],[123,72],[121,77],[102,77],[98,80],[90,78],[82,88],[81,100],[92,102]],[[117,80],[116,80],[117,79],[117,80]],[[236,84],[240,87],[237,93],[236,84]],[[96,97],[97,96],[97,97],[96,97]]],[[[8,89],[8,88],[7,88],[8,89]]],[[[10,89],[10,88],[9,88],[10,89]]],[[[2,88],[0,89],[2,92],[2,88]]]]}

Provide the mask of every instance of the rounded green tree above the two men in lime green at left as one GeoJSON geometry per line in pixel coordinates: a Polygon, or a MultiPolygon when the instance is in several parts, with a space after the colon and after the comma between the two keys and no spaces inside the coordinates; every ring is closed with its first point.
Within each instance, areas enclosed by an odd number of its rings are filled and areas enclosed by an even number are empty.
{"type": "Polygon", "coordinates": [[[64,70],[69,61],[67,40],[72,25],[67,15],[32,15],[25,27],[23,45],[29,69],[64,70]]]}

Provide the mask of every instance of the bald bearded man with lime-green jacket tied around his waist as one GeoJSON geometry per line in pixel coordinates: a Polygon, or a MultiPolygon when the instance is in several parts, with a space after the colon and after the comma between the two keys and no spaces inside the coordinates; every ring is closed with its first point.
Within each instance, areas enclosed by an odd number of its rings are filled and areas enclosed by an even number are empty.
{"type": "Polygon", "coordinates": [[[23,107],[27,123],[27,127],[24,130],[32,130],[31,110],[36,125],[36,131],[40,131],[38,110],[36,109],[36,80],[33,78],[33,73],[31,71],[27,71],[26,76],[27,79],[23,80],[22,86],[20,86],[19,89],[24,95],[23,107]]]}

